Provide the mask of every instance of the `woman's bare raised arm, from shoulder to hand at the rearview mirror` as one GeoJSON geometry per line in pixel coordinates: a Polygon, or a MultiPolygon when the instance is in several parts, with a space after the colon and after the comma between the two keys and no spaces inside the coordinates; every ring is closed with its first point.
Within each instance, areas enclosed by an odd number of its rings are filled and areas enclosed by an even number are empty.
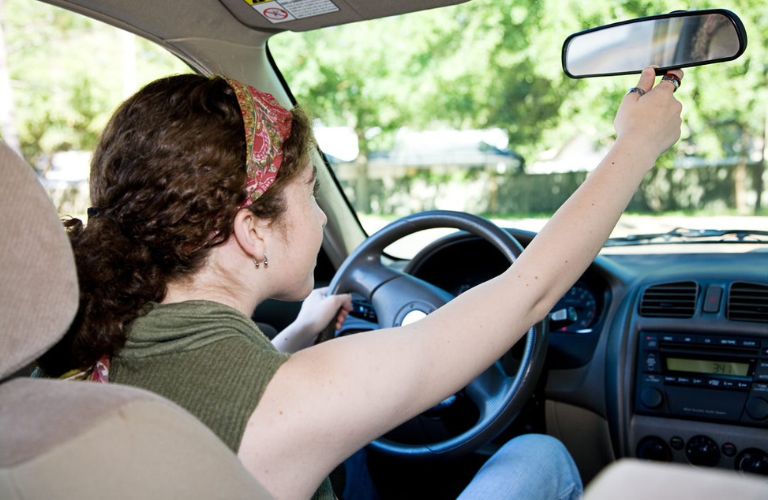
{"type": "Polygon", "coordinates": [[[239,451],[267,489],[309,497],[347,456],[467,385],[548,313],[680,136],[674,86],[653,83],[647,69],[645,95],[619,109],[610,152],[507,271],[417,323],[320,344],[277,371],[239,451]]]}

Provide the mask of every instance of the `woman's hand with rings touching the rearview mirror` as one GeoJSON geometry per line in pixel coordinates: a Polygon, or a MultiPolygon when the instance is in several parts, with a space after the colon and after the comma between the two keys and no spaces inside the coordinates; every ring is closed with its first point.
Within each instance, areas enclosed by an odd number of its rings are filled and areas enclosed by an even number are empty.
{"type": "MultiPolygon", "coordinates": [[[[672,70],[668,74],[680,81],[683,79],[682,70],[672,70]]],[[[676,90],[673,82],[662,80],[654,87],[655,79],[652,67],[643,70],[637,84],[640,91],[624,97],[614,127],[617,142],[634,142],[658,156],[680,138],[683,106],[673,95],[676,90]]]]}

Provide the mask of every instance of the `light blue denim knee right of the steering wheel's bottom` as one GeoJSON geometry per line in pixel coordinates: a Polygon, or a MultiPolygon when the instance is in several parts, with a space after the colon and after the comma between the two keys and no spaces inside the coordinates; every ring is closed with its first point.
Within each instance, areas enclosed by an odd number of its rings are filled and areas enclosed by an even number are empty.
{"type": "Polygon", "coordinates": [[[565,446],[543,434],[516,437],[475,474],[459,500],[576,500],[581,477],[565,446]]]}

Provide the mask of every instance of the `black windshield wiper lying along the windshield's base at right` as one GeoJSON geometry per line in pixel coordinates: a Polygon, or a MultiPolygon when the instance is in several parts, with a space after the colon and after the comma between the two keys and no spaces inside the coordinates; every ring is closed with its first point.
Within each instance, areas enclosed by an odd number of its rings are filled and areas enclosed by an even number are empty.
{"type": "Polygon", "coordinates": [[[768,231],[676,227],[666,233],[632,234],[621,238],[611,238],[605,243],[605,246],[665,243],[768,243],[768,231]]]}

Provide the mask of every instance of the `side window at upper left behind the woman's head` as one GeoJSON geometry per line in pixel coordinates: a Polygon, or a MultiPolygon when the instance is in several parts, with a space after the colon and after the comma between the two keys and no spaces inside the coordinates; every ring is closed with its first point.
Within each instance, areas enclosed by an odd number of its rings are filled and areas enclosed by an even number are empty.
{"type": "Polygon", "coordinates": [[[120,102],[189,71],[120,29],[42,2],[0,0],[0,134],[62,217],[85,216],[91,155],[120,102]]]}

